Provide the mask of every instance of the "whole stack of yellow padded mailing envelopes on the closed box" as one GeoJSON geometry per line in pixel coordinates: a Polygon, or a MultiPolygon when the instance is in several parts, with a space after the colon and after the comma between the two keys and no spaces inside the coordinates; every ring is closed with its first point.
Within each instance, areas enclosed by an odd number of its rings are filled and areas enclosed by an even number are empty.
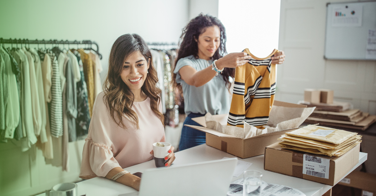
{"type": "Polygon", "coordinates": [[[361,143],[362,136],[334,128],[308,125],[287,132],[278,140],[282,148],[288,148],[313,154],[341,156],[361,143]]]}

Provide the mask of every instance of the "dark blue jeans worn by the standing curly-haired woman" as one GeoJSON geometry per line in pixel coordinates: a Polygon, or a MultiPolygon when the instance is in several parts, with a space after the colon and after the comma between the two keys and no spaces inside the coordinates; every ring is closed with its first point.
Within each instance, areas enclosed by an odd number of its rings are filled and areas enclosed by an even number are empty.
{"type": "Polygon", "coordinates": [[[190,113],[190,115],[185,118],[182,128],[182,134],[180,136],[179,151],[185,150],[187,148],[192,148],[194,146],[201,145],[206,142],[206,133],[196,130],[194,128],[186,127],[184,125],[196,125],[201,126],[197,122],[194,122],[192,118],[205,116],[199,113],[190,113]]]}

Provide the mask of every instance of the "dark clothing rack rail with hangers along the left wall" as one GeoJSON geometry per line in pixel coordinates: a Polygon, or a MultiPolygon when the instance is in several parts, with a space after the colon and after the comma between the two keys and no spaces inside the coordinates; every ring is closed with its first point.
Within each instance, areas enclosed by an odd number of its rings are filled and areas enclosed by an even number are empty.
{"type": "Polygon", "coordinates": [[[22,44],[27,44],[29,45],[29,48],[30,48],[30,44],[38,44],[38,48],[39,48],[39,44],[44,44],[44,47],[46,48],[46,44],[56,44],[56,45],[59,45],[59,44],[63,44],[63,47],[65,44],[68,45],[68,48],[69,48],[69,45],[70,44],[77,44],[77,48],[78,48],[78,45],[79,44],[85,44],[87,47],[86,48],[83,48],[84,50],[93,50],[95,51],[99,58],[102,59],[102,54],[99,53],[99,46],[96,42],[93,42],[93,41],[90,41],[90,40],[83,40],[83,41],[77,41],[77,40],[74,40],[74,41],[68,41],[68,40],[61,40],[61,41],[58,41],[56,39],[52,40],[38,40],[38,39],[35,39],[35,40],[29,40],[29,39],[3,39],[3,38],[0,38],[0,44],[12,44],[12,47],[13,47],[13,44],[21,44],[21,47],[22,47],[22,44]],[[92,48],[92,44],[96,45],[97,47],[97,50],[94,50],[92,48]]]}

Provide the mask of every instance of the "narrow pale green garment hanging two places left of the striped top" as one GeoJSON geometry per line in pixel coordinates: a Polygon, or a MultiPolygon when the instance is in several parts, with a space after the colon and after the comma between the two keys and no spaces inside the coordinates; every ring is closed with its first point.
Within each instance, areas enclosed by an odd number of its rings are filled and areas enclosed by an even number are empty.
{"type": "Polygon", "coordinates": [[[35,76],[36,76],[36,83],[38,86],[39,107],[40,107],[41,119],[42,119],[41,131],[39,135],[40,135],[41,143],[45,143],[47,142],[47,134],[46,134],[47,116],[46,116],[46,108],[45,108],[46,106],[45,106],[45,99],[44,99],[42,64],[41,64],[41,59],[35,49],[30,48],[29,52],[34,57],[35,76]]]}

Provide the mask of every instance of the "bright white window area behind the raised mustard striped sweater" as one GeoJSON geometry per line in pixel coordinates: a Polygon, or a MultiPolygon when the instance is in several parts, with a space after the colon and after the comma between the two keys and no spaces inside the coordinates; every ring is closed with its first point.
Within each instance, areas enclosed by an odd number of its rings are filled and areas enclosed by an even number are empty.
{"type": "Polygon", "coordinates": [[[218,4],[228,53],[249,48],[263,58],[278,49],[280,0],[219,0],[218,4]]]}

